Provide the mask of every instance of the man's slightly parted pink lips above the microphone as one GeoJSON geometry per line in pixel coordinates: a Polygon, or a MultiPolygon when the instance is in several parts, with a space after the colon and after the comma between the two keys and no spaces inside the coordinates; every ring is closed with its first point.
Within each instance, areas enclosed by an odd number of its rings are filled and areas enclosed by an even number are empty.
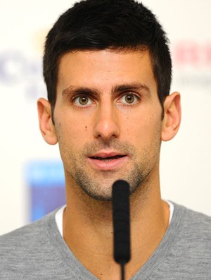
{"type": "Polygon", "coordinates": [[[94,169],[108,171],[120,169],[128,158],[127,154],[119,152],[98,152],[91,154],[87,160],[94,169]]]}

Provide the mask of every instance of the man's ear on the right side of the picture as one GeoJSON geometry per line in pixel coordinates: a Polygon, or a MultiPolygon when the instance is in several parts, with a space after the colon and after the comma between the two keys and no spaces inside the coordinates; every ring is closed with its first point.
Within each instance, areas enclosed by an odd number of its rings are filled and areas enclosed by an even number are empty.
{"type": "Polygon", "coordinates": [[[162,120],[162,141],[174,138],[181,122],[181,104],[179,92],[168,95],[164,102],[164,118],[162,120]]]}

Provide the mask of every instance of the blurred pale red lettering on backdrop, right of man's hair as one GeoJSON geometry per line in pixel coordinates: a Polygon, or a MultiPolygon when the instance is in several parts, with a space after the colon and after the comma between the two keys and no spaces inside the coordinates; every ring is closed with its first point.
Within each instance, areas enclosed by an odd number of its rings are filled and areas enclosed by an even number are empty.
{"type": "Polygon", "coordinates": [[[177,42],[174,44],[173,59],[178,67],[210,68],[211,42],[177,42]]]}

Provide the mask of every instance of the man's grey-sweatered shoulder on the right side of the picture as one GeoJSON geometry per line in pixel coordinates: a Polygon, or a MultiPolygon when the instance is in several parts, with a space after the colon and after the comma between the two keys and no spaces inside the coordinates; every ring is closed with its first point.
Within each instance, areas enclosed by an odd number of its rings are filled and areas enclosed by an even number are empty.
{"type": "Polygon", "coordinates": [[[170,226],[146,273],[151,279],[211,279],[211,217],[172,203],[170,226]]]}

